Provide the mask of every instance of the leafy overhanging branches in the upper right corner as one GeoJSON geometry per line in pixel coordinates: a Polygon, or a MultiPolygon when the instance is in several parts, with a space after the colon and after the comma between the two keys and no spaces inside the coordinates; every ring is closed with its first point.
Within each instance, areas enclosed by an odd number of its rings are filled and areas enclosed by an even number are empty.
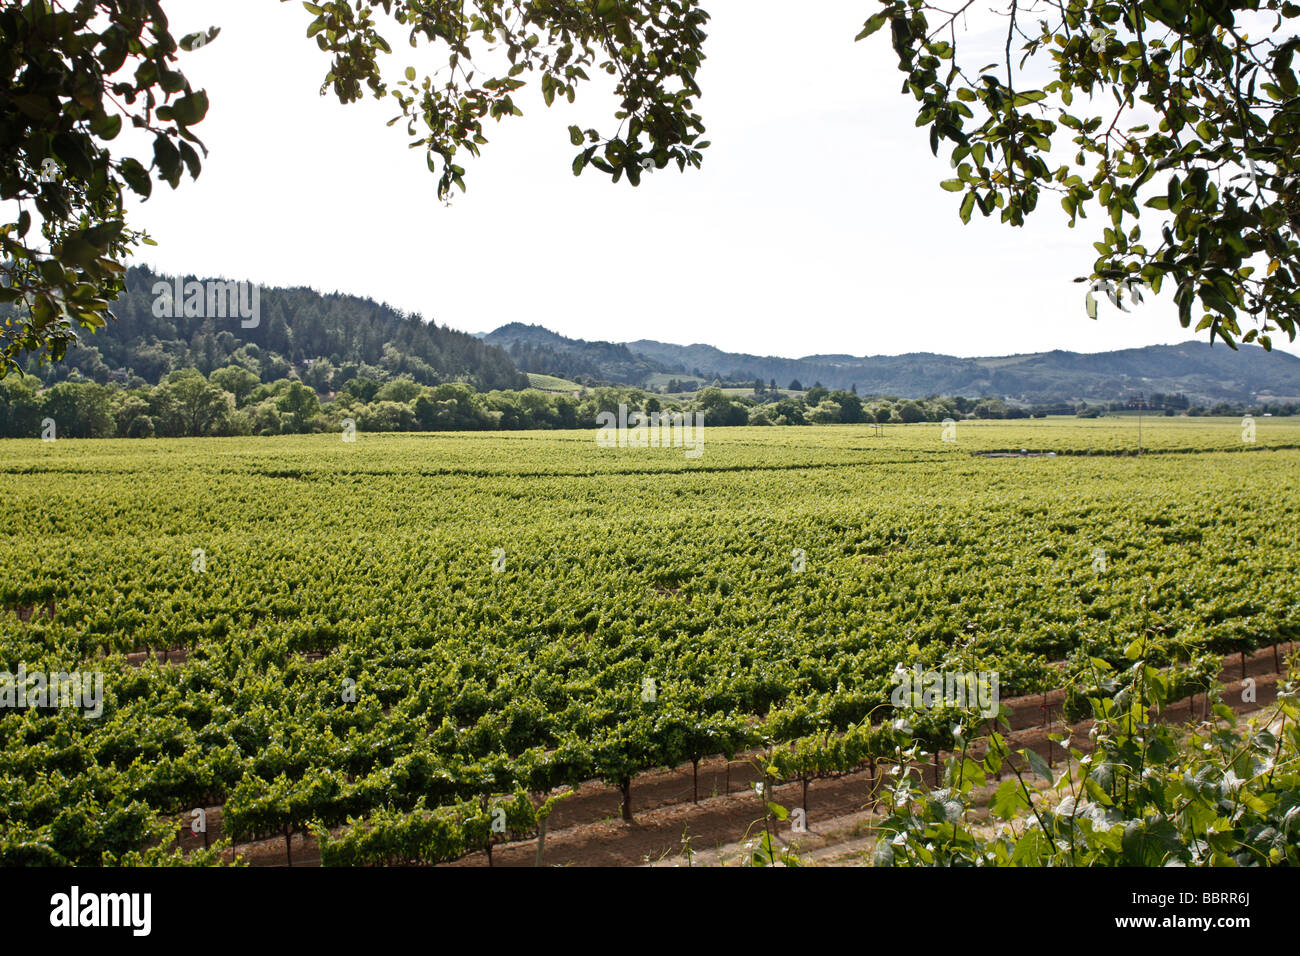
{"type": "Polygon", "coordinates": [[[916,125],[935,155],[950,147],[942,187],[962,194],[963,221],[978,208],[1022,225],[1057,194],[1071,226],[1089,207],[1104,219],[1078,280],[1093,317],[1095,293],[1124,308],[1167,284],[1182,325],[1197,319],[1210,341],[1295,338],[1300,5],[1010,0],[985,64],[965,55],[974,0],[880,3],[858,39],[889,26],[916,125]]]}

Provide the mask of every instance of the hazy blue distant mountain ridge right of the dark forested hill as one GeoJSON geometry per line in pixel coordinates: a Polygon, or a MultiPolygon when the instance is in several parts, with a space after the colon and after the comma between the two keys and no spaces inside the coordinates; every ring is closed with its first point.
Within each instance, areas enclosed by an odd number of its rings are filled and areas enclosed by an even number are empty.
{"type": "Polygon", "coordinates": [[[629,385],[644,385],[651,376],[702,382],[714,378],[770,382],[775,378],[783,388],[798,380],[805,386],[814,382],[831,389],[855,386],[863,395],[996,395],[1031,405],[1115,401],[1139,392],[1180,393],[1199,403],[1300,397],[1300,358],[1266,352],[1257,346],[1242,346],[1234,352],[1206,342],[1095,354],[1054,350],[984,358],[911,352],[790,359],[654,339],[586,342],[521,323],[478,337],[503,347],[516,364],[519,355],[528,355],[537,367],[523,371],[588,375],[629,385]],[[547,360],[556,367],[545,368],[547,360]]]}

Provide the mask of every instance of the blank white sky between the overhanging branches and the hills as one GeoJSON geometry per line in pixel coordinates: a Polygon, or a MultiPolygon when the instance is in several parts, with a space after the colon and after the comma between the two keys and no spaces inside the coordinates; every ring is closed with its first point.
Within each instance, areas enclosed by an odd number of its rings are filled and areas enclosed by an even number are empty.
{"type": "MultiPolygon", "coordinates": [[[[1132,315],[1084,312],[1100,220],[1069,229],[1046,196],[1023,229],[963,226],[952,176],[915,127],[887,33],[854,43],[872,0],[716,0],[698,107],[702,170],[641,187],[575,178],[567,126],[612,127],[580,88],[488,130],[448,208],[391,101],[320,96],[328,57],[299,3],[169,0],[173,29],[221,27],[182,55],[212,107],[198,182],[133,209],[164,272],[368,295],[442,325],[511,321],[588,339],[705,342],[802,356],[1105,351],[1183,342],[1167,294],[1132,315]],[[797,27],[792,30],[792,26],[797,27]]],[[[390,34],[391,75],[438,65],[390,34]]],[[[1204,333],[1201,336],[1204,338],[1204,333]]],[[[1280,337],[1280,336],[1279,336],[1280,337]]],[[[1295,346],[1284,346],[1300,351],[1295,346]]]]}

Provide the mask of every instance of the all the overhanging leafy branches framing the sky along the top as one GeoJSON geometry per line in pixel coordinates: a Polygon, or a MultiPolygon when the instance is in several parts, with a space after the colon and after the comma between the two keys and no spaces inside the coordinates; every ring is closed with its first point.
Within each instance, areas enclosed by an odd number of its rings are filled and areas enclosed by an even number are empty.
{"type": "MultiPolygon", "coordinates": [[[[1006,0],[998,14],[974,0],[879,3],[859,39],[889,27],[916,125],[936,155],[950,150],[956,174],[941,185],[961,194],[963,221],[978,208],[1022,225],[1054,193],[1070,225],[1089,208],[1104,219],[1079,277],[1091,315],[1097,294],[1126,308],[1169,285],[1182,324],[1196,319],[1212,341],[1295,338],[1300,5],[1006,0]],[[979,53],[991,16],[1002,56],[979,64],[966,49],[979,53]]],[[[22,307],[0,325],[0,375],[22,355],[60,359],[110,317],[124,260],[150,242],[126,222],[124,196],[200,173],[192,127],[208,98],[178,61],[218,29],[177,39],[162,5],[27,0],[0,12],[0,200],[16,209],[0,224],[0,303],[22,307]],[[148,155],[114,143],[127,125],[148,155]]],[[[615,129],[569,129],[575,174],[636,186],[651,169],[699,166],[708,146],[696,112],[708,14],[697,0],[303,7],[307,36],[330,57],[321,91],[391,99],[390,122],[426,151],[442,198],[464,190],[462,152],[478,155],[486,121],[523,113],[529,82],[551,104],[594,72],[614,78],[615,129]],[[390,79],[398,38],[430,48],[436,69],[390,79]]]]}

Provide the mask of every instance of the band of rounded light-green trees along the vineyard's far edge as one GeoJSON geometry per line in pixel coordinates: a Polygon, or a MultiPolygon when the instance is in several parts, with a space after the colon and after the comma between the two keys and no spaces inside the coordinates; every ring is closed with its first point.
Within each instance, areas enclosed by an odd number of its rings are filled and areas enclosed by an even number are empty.
{"type": "Polygon", "coordinates": [[[338,431],[351,419],[363,432],[595,428],[601,412],[701,411],[708,427],[942,421],[946,418],[1024,418],[998,399],[863,399],[812,388],[803,395],[729,395],[701,389],[673,401],[627,386],[578,395],[538,389],[477,392],[467,382],[422,385],[410,376],[354,377],[332,398],[302,378],[263,382],[242,365],[208,376],[187,368],[159,385],[122,388],[79,376],[49,388],[32,377],[0,380],[0,437],[30,438],[55,423],[56,437],[151,438],[300,434],[338,431]]]}

